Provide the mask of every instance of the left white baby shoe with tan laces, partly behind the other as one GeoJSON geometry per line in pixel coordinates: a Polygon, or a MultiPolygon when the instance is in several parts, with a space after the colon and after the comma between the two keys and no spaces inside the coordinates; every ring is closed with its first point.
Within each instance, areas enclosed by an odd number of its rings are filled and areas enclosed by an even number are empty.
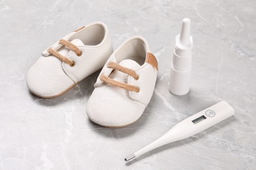
{"type": "Polygon", "coordinates": [[[66,35],[32,65],[27,85],[33,94],[62,95],[83,78],[101,69],[113,52],[108,27],[95,22],[66,35]]]}

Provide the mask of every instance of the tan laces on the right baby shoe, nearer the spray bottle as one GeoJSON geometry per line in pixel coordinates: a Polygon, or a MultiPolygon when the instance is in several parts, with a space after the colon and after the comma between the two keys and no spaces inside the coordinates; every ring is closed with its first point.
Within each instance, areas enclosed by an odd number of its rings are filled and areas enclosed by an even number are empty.
{"type": "MultiPolygon", "coordinates": [[[[135,71],[133,71],[132,69],[128,69],[126,67],[123,67],[123,66],[121,66],[117,63],[114,63],[114,62],[108,63],[108,68],[116,69],[117,71],[121,71],[123,73],[126,73],[127,75],[133,76],[133,78],[135,78],[135,80],[139,79],[139,75],[137,75],[137,73],[135,71]]],[[[108,76],[105,76],[105,75],[101,75],[100,80],[102,80],[102,82],[105,82],[105,83],[110,84],[112,86],[117,86],[119,88],[123,88],[125,90],[129,90],[129,91],[132,91],[132,92],[140,92],[140,88],[138,86],[125,84],[123,82],[118,82],[116,80],[113,80],[112,78],[109,78],[108,76]]]]}

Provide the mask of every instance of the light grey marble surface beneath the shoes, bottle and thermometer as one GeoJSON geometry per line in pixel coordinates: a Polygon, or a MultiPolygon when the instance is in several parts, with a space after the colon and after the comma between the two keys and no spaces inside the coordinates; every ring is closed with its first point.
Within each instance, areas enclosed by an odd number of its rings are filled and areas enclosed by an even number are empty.
{"type": "Polygon", "coordinates": [[[256,169],[255,1],[0,1],[0,170],[256,169]],[[181,20],[192,20],[190,93],[168,92],[181,20]],[[98,73],[56,99],[28,92],[26,72],[74,29],[105,22],[114,48],[145,37],[160,63],[152,100],[131,126],[110,129],[85,113],[98,73]],[[123,158],[188,116],[225,100],[235,116],[135,161],[123,158]]]}

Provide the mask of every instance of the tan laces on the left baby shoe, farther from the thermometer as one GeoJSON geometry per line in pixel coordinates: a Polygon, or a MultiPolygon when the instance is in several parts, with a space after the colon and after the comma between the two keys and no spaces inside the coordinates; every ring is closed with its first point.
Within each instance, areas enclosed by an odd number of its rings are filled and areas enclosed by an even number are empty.
{"type": "MultiPolygon", "coordinates": [[[[75,44],[73,44],[72,42],[69,42],[69,41],[66,41],[64,39],[61,39],[58,43],[62,44],[64,46],[67,46],[68,48],[70,48],[70,50],[74,51],[77,56],[81,56],[82,55],[82,51],[79,50],[79,48],[77,46],[75,46],[75,44]]],[[[47,51],[51,55],[53,55],[54,57],[56,57],[56,58],[60,59],[61,61],[63,61],[64,63],[67,63],[68,65],[74,67],[75,61],[73,61],[72,59],[69,59],[69,58],[63,56],[62,54],[60,54],[56,50],[53,50],[53,48],[49,48],[47,51]]]]}

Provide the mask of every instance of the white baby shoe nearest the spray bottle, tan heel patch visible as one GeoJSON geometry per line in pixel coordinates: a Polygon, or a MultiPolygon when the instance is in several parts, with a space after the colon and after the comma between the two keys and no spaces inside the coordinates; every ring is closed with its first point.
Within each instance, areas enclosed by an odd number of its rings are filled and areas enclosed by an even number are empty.
{"type": "Polygon", "coordinates": [[[123,42],[104,65],[87,103],[96,124],[123,127],[140,118],[148,105],[158,73],[158,61],[142,37],[123,42]]]}

